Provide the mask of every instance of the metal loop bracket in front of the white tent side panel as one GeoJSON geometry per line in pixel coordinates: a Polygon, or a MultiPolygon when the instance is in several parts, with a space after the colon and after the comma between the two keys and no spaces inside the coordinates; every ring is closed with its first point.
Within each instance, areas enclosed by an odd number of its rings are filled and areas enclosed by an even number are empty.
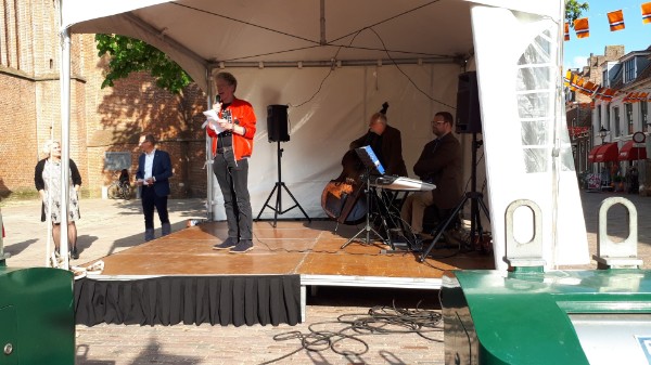
{"type": "Polygon", "coordinates": [[[532,200],[518,199],[507,207],[505,216],[507,230],[505,262],[513,268],[513,270],[518,270],[518,268],[538,268],[542,270],[545,268],[545,259],[542,258],[542,213],[540,207],[532,200]],[[526,243],[515,240],[515,236],[513,235],[513,213],[521,207],[529,208],[534,214],[534,234],[532,239],[526,243]]]}

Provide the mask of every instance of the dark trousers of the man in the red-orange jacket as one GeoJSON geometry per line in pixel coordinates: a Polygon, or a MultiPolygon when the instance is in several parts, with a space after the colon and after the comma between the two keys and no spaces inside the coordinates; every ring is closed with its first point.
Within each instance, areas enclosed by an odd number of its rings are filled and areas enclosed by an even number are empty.
{"type": "Polygon", "coordinates": [[[224,195],[228,236],[253,239],[253,212],[248,195],[248,160],[234,160],[233,151],[215,155],[213,172],[224,195]]]}

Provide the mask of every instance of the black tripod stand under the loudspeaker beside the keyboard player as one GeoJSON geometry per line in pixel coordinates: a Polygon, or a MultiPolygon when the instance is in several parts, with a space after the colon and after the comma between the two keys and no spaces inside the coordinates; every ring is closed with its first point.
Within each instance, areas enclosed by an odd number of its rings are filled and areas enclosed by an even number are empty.
{"type": "Polygon", "coordinates": [[[470,200],[470,240],[467,243],[468,246],[474,245],[477,237],[482,237],[484,234],[484,229],[482,226],[482,217],[480,216],[480,208],[486,216],[486,219],[490,221],[490,214],[488,213],[488,209],[484,204],[484,195],[482,193],[477,193],[477,149],[482,146],[483,142],[477,141],[477,133],[472,133],[472,169],[471,169],[471,192],[465,193],[463,199],[457,205],[457,207],[452,210],[452,212],[448,216],[445,223],[439,224],[436,227],[436,235],[434,236],[434,240],[430,244],[427,249],[423,251],[420,257],[420,262],[425,261],[430,251],[436,246],[436,243],[445,231],[449,227],[449,225],[455,221],[457,217],[459,217],[459,211],[463,209],[465,201],[470,200]]]}

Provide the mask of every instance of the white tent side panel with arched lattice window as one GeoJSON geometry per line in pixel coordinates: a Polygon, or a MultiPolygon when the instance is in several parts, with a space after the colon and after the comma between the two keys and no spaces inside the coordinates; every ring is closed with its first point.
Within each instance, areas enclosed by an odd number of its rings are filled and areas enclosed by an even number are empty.
{"type": "Polygon", "coordinates": [[[546,266],[589,262],[561,91],[560,18],[472,8],[494,252],[500,269],[507,268],[502,258],[510,238],[505,212],[520,199],[540,207],[542,230],[534,230],[531,210],[518,209],[512,225],[519,247],[532,244],[535,235],[541,239],[546,266]],[[496,53],[494,39],[510,47],[496,53]]]}

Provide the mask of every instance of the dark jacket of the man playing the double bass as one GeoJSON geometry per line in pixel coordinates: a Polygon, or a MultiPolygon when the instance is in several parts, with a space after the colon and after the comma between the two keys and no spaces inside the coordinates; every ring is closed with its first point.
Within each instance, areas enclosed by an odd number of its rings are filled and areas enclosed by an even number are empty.
{"type": "MultiPolygon", "coordinates": [[[[350,148],[358,148],[371,144],[371,140],[378,138],[378,134],[369,131],[350,143],[350,148]]],[[[382,151],[380,152],[382,165],[386,174],[398,177],[407,175],[407,166],[403,159],[403,138],[400,131],[391,126],[382,133],[382,151]]],[[[380,156],[379,156],[380,157],[380,156]]]]}

